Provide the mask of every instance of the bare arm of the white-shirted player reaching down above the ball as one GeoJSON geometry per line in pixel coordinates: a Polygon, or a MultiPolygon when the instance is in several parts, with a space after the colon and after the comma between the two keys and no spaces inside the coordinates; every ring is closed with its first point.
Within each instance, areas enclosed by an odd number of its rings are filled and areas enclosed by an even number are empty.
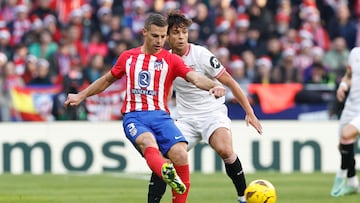
{"type": "Polygon", "coordinates": [[[251,107],[247,96],[244,91],[241,89],[239,84],[233,79],[233,77],[225,71],[218,80],[223,84],[229,87],[237,101],[240,103],[241,107],[244,109],[246,116],[245,121],[246,125],[252,125],[259,134],[262,134],[262,126],[259,119],[256,117],[253,108],[251,107]]]}

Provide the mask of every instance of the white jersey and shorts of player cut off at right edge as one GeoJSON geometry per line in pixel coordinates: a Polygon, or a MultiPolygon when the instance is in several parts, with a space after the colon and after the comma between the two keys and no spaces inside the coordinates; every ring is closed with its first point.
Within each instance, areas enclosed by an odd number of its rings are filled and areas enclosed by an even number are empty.
{"type": "Polygon", "coordinates": [[[360,130],[360,47],[351,50],[348,59],[351,68],[351,88],[345,101],[340,123],[341,127],[351,123],[360,130]]]}

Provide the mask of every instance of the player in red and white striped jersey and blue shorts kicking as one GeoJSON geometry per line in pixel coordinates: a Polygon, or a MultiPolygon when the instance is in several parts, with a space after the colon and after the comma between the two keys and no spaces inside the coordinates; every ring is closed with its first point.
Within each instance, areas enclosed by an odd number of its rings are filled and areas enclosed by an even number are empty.
{"type": "Polygon", "coordinates": [[[142,31],[143,45],[124,51],[108,73],[78,94],[68,94],[64,105],[79,105],[85,98],[126,77],[126,96],[121,109],[126,137],[143,155],[149,168],[172,187],[173,203],[185,203],[190,186],[187,140],[170,117],[168,93],[176,77],[215,96],[225,95],[226,90],[163,48],[167,28],[164,16],[150,14],[142,31]]]}

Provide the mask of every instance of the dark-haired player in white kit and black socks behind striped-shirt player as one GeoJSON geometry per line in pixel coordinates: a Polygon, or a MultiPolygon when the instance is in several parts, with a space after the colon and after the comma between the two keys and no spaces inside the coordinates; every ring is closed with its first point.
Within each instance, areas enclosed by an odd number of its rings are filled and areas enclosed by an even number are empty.
{"type": "MultiPolygon", "coordinates": [[[[181,56],[196,72],[229,87],[246,112],[247,125],[251,124],[261,134],[262,126],[238,83],[208,49],[188,43],[188,27],[191,23],[191,20],[179,11],[168,15],[168,42],[172,53],[181,56]]],[[[175,79],[174,90],[179,114],[176,125],[188,140],[188,149],[192,149],[200,141],[208,143],[223,159],[226,173],[236,188],[238,202],[245,202],[246,181],[241,162],[233,150],[231,121],[224,104],[225,98],[216,99],[204,94],[204,91],[182,78],[175,79]]],[[[163,181],[153,174],[149,184],[148,202],[159,202],[165,189],[163,181]]]]}

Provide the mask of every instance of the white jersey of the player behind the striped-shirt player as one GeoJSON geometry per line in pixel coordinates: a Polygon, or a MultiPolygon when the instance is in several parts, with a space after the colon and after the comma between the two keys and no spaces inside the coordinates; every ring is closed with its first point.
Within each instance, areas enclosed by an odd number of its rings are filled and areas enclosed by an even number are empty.
{"type": "MultiPolygon", "coordinates": [[[[182,59],[193,70],[214,81],[217,81],[216,78],[225,71],[218,59],[208,49],[199,45],[189,44],[189,49],[182,59]]],[[[180,77],[174,81],[174,90],[180,117],[204,115],[225,105],[225,97],[216,99],[213,95],[209,95],[208,91],[199,89],[180,77]]]]}

